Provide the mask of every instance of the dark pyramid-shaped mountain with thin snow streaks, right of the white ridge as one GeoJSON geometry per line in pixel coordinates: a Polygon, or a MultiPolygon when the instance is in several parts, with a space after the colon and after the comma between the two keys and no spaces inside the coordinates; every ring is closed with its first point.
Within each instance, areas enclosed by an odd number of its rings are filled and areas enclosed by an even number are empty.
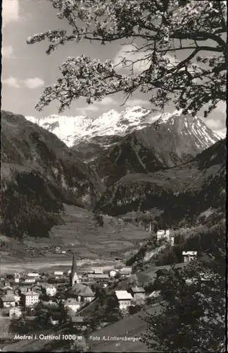
{"type": "Polygon", "coordinates": [[[127,134],[89,165],[94,164],[104,183],[110,185],[128,173],[146,174],[187,162],[217,140],[196,116],[167,114],[127,134]]]}

